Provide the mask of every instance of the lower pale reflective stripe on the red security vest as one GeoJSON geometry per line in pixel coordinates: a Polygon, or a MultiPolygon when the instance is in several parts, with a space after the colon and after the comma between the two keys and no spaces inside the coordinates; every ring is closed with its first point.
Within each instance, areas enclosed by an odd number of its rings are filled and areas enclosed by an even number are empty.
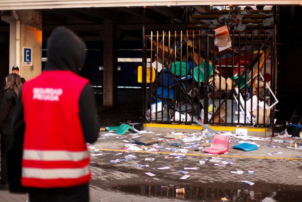
{"type": "Polygon", "coordinates": [[[89,174],[89,164],[84,168],[22,168],[23,178],[36,179],[75,179],[89,174]]]}

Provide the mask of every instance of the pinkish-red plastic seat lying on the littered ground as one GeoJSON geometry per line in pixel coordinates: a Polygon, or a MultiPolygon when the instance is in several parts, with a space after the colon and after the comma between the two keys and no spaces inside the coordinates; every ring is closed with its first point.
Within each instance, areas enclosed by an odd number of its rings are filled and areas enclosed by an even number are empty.
{"type": "Polygon", "coordinates": [[[204,148],[210,154],[222,154],[229,150],[229,136],[217,134],[213,138],[211,147],[204,148]]]}

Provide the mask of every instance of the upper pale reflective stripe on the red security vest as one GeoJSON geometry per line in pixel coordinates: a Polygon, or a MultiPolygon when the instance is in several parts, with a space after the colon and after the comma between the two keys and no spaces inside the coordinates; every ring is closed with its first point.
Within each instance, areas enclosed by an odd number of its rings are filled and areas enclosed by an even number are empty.
{"type": "Polygon", "coordinates": [[[24,149],[23,160],[36,161],[82,161],[88,158],[88,151],[45,151],[24,149]]]}

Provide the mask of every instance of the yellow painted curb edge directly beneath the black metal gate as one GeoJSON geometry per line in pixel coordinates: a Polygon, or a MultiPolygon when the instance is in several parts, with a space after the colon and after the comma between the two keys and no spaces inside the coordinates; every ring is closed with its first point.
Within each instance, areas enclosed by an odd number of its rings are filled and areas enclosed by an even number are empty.
{"type": "MultiPolygon", "coordinates": [[[[176,128],[176,129],[198,129],[202,130],[201,125],[182,125],[182,124],[162,124],[162,123],[144,123],[144,127],[154,127],[154,128],[176,128]]],[[[235,131],[236,126],[209,126],[213,130],[217,131],[235,131]]],[[[270,132],[269,128],[254,128],[254,127],[240,127],[241,129],[247,129],[249,132],[270,132]]]]}

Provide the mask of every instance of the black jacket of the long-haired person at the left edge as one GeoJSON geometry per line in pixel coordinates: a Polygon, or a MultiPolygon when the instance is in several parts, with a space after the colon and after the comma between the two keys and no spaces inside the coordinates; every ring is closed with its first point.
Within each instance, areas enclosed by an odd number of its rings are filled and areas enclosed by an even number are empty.
{"type": "Polygon", "coordinates": [[[0,133],[12,135],[11,121],[16,106],[17,94],[14,90],[8,90],[3,94],[0,102],[0,133]]]}

